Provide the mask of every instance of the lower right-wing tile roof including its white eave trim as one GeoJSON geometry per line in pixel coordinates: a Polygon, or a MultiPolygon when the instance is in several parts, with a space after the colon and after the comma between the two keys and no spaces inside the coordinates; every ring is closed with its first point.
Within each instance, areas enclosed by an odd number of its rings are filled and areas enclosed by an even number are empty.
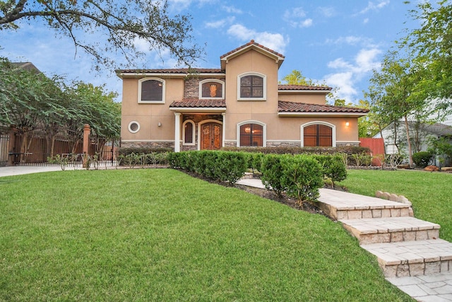
{"type": "Polygon", "coordinates": [[[340,107],[278,101],[278,115],[280,116],[364,116],[369,110],[354,107],[340,107]]]}

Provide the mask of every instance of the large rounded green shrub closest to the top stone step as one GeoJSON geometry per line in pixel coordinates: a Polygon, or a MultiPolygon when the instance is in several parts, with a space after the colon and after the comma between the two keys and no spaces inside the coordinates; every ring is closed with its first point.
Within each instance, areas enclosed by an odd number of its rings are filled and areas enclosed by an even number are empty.
{"type": "Polygon", "coordinates": [[[300,205],[304,201],[319,198],[319,188],[323,186],[321,165],[312,156],[281,156],[283,177],[281,185],[285,192],[298,199],[300,205]]]}

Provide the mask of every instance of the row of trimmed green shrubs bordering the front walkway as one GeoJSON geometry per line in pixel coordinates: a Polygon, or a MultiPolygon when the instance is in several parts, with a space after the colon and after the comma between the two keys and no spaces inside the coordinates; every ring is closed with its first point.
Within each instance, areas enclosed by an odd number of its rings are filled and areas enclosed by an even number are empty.
{"type": "Polygon", "coordinates": [[[259,170],[267,190],[283,192],[304,201],[316,200],[323,179],[345,180],[347,171],[341,156],[307,154],[263,154],[232,151],[183,151],[169,153],[169,165],[210,180],[234,184],[247,168],[259,170]]]}

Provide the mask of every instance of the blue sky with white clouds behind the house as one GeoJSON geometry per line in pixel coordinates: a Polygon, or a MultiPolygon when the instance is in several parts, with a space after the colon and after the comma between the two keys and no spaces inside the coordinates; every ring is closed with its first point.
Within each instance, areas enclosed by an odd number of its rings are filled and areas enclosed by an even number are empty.
{"type": "MultiPolygon", "coordinates": [[[[219,68],[220,56],[251,39],[285,55],[280,80],[294,69],[309,79],[338,88],[338,97],[357,103],[369,86],[372,69],[404,29],[417,24],[408,16],[417,1],[400,0],[168,0],[172,13],[190,13],[194,38],[206,44],[206,57],[196,67],[219,68]]],[[[92,71],[93,61],[76,52],[69,38],[55,37],[42,22],[18,23],[16,31],[0,30],[0,56],[32,62],[47,76],[58,74],[121,94],[114,70],[92,71]]],[[[93,37],[88,37],[92,39],[93,37]]],[[[139,43],[139,42],[137,42],[139,43]]],[[[138,45],[139,47],[140,45],[138,45]]],[[[109,54],[117,57],[117,54],[109,54]]],[[[125,68],[117,57],[117,68],[125,68]]],[[[133,68],[173,68],[167,52],[148,52],[133,68]]],[[[119,99],[120,100],[120,99],[119,99]]]]}

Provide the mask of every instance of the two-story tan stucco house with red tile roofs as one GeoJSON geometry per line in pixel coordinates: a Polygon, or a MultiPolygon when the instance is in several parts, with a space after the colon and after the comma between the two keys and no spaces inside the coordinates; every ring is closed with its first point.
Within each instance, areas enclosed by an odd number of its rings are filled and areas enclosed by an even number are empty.
{"type": "Polygon", "coordinates": [[[220,69],[117,70],[121,146],[359,145],[367,110],[326,105],[328,87],[278,85],[284,59],[251,40],[223,54],[220,69]]]}

